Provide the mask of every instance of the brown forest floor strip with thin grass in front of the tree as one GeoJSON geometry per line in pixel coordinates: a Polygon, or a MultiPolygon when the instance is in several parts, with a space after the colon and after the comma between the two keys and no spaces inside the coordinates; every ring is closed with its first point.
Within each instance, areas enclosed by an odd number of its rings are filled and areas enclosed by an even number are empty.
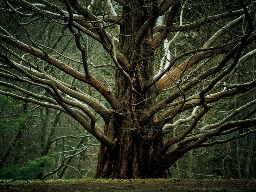
{"type": "Polygon", "coordinates": [[[256,180],[48,180],[48,181],[0,181],[0,191],[256,191],[256,180]]]}

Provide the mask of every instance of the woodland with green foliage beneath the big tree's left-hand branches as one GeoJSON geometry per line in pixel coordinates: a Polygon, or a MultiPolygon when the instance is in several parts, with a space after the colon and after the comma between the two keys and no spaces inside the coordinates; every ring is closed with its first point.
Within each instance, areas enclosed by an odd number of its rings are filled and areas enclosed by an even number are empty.
{"type": "Polygon", "coordinates": [[[1,179],[94,176],[99,143],[76,121],[3,95],[1,104],[1,179]]]}

